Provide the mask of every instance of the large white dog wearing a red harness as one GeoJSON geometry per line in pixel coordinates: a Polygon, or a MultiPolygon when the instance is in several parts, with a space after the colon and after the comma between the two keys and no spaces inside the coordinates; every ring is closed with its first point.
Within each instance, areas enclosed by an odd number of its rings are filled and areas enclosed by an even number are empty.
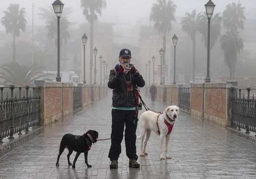
{"type": "Polygon", "coordinates": [[[151,130],[160,136],[160,159],[171,158],[168,154],[168,143],[173,128],[173,124],[179,114],[180,109],[177,106],[167,107],[163,114],[157,114],[152,111],[144,112],[139,118],[140,136],[140,156],[148,154],[146,152],[147,142],[150,138],[151,130]],[[144,141],[146,135],[146,139],[144,141]],[[165,156],[164,156],[164,138],[165,138],[165,156]],[[144,146],[143,146],[144,143],[144,146]]]}

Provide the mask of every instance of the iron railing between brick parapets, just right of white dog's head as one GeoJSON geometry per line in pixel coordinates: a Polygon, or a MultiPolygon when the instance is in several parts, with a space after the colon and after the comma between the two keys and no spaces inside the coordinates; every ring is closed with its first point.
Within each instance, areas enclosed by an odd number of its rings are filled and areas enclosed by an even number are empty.
{"type": "Polygon", "coordinates": [[[190,111],[190,88],[179,88],[180,108],[190,111]]]}

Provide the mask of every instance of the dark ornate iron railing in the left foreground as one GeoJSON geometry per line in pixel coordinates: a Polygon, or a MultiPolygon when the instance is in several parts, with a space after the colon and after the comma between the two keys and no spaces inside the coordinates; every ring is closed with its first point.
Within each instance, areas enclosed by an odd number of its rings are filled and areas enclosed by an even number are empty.
{"type": "Polygon", "coordinates": [[[29,93],[29,86],[15,87],[0,87],[0,142],[5,137],[14,138],[15,133],[21,134],[22,130],[28,131],[29,127],[40,124],[40,88],[32,87],[33,95],[29,93]],[[6,98],[3,99],[4,89],[10,89],[10,98],[8,93],[6,98]],[[19,89],[19,97],[14,89],[19,89]],[[22,97],[22,89],[25,91],[22,97]]]}

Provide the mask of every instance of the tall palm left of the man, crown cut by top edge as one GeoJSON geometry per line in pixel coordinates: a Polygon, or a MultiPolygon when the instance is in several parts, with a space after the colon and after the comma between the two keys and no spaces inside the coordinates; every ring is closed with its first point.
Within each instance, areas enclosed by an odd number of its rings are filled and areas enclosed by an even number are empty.
{"type": "Polygon", "coordinates": [[[97,14],[101,16],[102,8],[106,8],[105,0],[81,0],[81,8],[86,20],[91,24],[90,27],[90,83],[92,84],[92,68],[93,68],[93,32],[94,21],[98,20],[97,14]]]}

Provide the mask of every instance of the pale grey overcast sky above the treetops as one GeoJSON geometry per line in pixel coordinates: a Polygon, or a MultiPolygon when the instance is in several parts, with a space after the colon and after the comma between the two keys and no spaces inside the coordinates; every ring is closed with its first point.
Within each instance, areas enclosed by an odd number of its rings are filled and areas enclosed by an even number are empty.
{"type": "MultiPolygon", "coordinates": [[[[177,5],[176,16],[184,16],[186,11],[191,12],[193,9],[204,11],[204,4],[208,0],[173,0],[177,5]]],[[[38,18],[38,7],[50,7],[54,0],[1,0],[0,18],[3,17],[3,11],[7,9],[10,3],[19,3],[20,7],[25,7],[27,12],[27,25],[32,25],[32,3],[34,3],[34,25],[44,25],[44,21],[38,18]]],[[[71,22],[85,22],[80,7],[80,0],[62,0],[65,7],[70,7],[73,12],[69,16],[71,22]]],[[[107,7],[102,11],[102,17],[99,18],[100,22],[119,23],[127,22],[127,26],[134,25],[138,18],[148,19],[150,8],[157,0],[106,0],[107,7]]],[[[216,5],[214,12],[223,12],[225,6],[231,2],[238,2],[238,0],[213,0],[216,5]]],[[[256,8],[256,0],[240,0],[241,4],[246,9],[256,8]]],[[[53,11],[53,9],[52,9],[53,11]]],[[[53,12],[54,13],[54,12],[53,12]]],[[[256,17],[255,17],[256,18],[256,17]]],[[[0,25],[0,30],[5,30],[0,25]]]]}

